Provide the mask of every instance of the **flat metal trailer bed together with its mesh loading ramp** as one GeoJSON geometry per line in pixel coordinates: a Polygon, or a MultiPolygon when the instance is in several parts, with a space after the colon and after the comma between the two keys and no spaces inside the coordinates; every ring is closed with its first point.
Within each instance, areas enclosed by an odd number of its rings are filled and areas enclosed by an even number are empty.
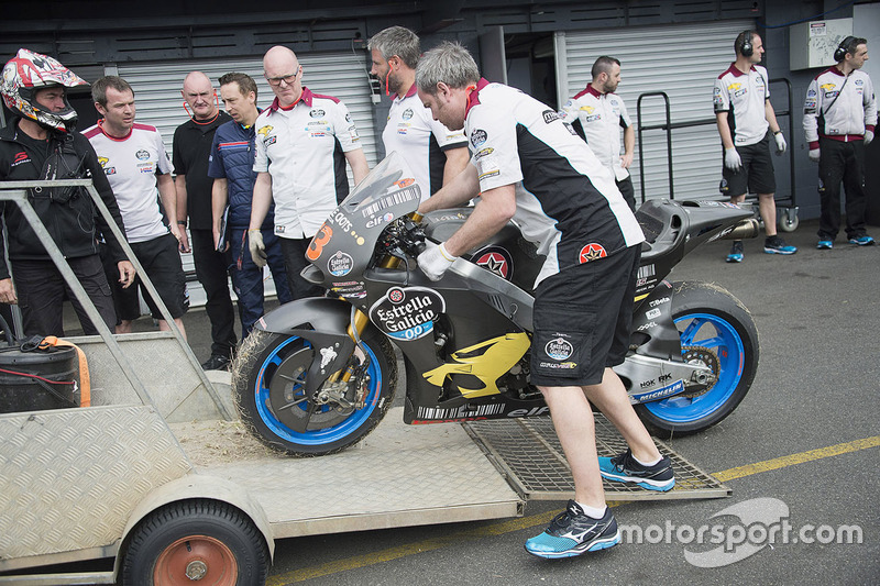
{"type": "MultiPolygon", "coordinates": [[[[397,407],[356,446],[316,458],[274,453],[239,422],[170,427],[196,474],[245,488],[266,511],[276,539],[517,517],[527,499],[565,500],[574,495],[549,417],[406,425],[397,407]]],[[[626,449],[600,414],[596,440],[600,455],[626,449]]],[[[673,460],[675,488],[656,493],[606,484],[608,500],[730,495],[718,480],[658,444],[673,460]]]]}

